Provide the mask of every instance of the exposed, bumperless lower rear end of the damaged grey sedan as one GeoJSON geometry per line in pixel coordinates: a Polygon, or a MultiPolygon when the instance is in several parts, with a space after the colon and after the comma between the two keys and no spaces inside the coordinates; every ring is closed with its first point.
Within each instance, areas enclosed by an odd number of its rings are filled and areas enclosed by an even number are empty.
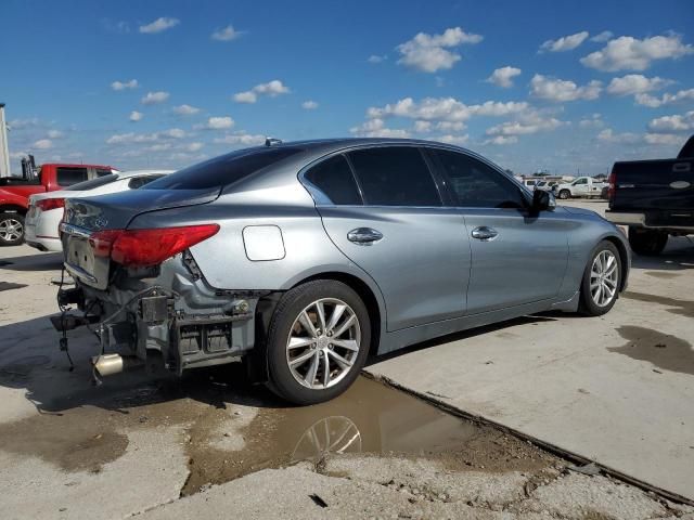
{"type": "Polygon", "coordinates": [[[254,348],[254,316],[262,294],[215,289],[180,255],[151,274],[156,276],[116,276],[105,290],[77,281],[74,289],[61,289],[59,303],[81,313],[55,316],[53,325],[59,330],[90,326],[101,343],[94,367],[102,363],[108,374],[146,364],[153,372],[164,367],[181,375],[191,367],[230,363],[254,348]],[[123,358],[104,360],[110,354],[123,358]],[[126,356],[141,363],[124,363],[126,356]]]}

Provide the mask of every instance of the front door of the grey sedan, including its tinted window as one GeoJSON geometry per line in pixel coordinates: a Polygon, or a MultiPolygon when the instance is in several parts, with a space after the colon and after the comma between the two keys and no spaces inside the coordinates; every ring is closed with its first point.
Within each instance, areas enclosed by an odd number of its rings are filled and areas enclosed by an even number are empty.
{"type": "Polygon", "coordinates": [[[534,213],[520,186],[477,157],[444,148],[430,154],[470,237],[467,314],[555,297],[566,272],[570,222],[562,212],[534,213]]]}

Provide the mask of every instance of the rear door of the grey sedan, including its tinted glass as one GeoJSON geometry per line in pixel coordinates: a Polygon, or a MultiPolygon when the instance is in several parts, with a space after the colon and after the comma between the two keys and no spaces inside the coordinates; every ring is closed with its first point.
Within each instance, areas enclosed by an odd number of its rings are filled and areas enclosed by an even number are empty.
{"type": "Polygon", "coordinates": [[[352,150],[304,180],[333,243],[378,285],[388,330],[464,314],[468,238],[420,148],[352,150]]]}

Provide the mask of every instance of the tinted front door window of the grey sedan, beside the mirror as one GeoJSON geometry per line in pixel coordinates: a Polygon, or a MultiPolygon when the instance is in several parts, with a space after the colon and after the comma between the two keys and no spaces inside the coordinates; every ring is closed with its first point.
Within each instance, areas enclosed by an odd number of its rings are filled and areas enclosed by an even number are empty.
{"type": "Polygon", "coordinates": [[[448,177],[459,206],[468,208],[525,208],[520,190],[490,166],[465,154],[433,150],[448,177]]]}

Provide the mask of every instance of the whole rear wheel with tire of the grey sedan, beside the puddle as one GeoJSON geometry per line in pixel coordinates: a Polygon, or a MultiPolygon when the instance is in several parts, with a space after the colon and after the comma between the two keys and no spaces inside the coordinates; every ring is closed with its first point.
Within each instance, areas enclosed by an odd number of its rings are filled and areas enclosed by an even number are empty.
{"type": "Polygon", "coordinates": [[[369,354],[371,322],[349,286],[319,280],[282,297],[267,337],[270,390],[308,405],[336,398],[355,381],[369,354]]]}

